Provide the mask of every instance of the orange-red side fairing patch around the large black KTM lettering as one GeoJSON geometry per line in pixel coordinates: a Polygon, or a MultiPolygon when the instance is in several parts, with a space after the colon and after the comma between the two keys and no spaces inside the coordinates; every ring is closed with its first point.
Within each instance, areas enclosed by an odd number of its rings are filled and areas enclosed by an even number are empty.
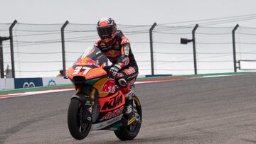
{"type": "Polygon", "coordinates": [[[100,106],[102,106],[100,112],[112,111],[124,105],[125,103],[124,94],[122,94],[120,91],[112,96],[101,98],[99,101],[100,106]]]}

